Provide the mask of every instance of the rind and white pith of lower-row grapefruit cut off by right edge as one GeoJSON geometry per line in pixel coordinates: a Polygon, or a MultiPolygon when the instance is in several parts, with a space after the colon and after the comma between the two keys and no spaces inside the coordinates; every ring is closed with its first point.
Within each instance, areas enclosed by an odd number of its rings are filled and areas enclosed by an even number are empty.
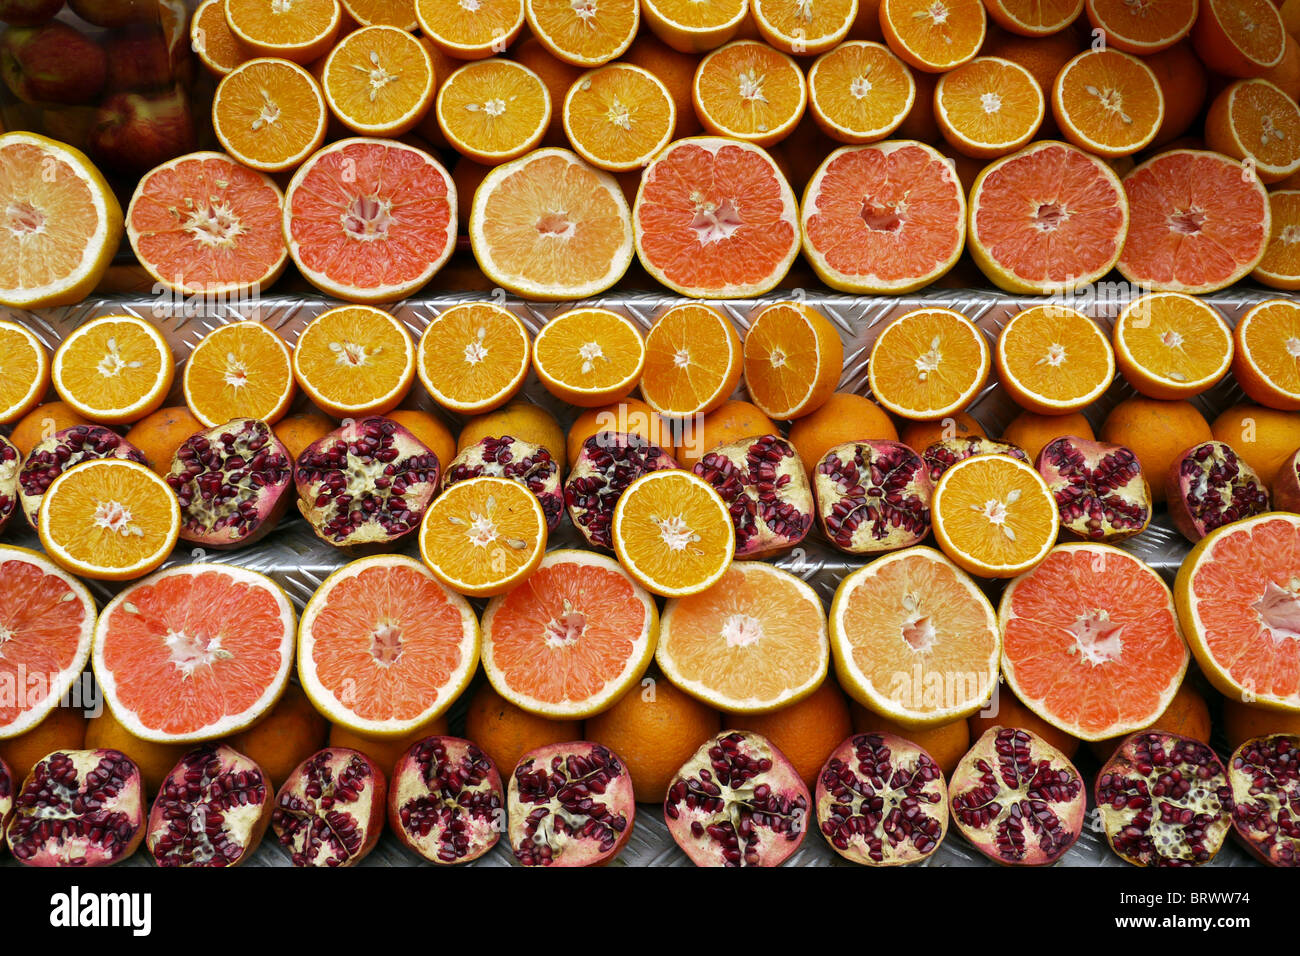
{"type": "MultiPolygon", "coordinates": [[[[1300,679],[1297,679],[1290,693],[1260,693],[1257,688],[1243,685],[1240,680],[1232,676],[1230,666],[1225,666],[1218,661],[1213,648],[1210,646],[1210,639],[1205,632],[1205,627],[1201,623],[1200,606],[1202,598],[1197,597],[1195,589],[1197,576],[1202,568],[1206,567],[1206,564],[1214,562],[1213,551],[1218,549],[1221,544],[1238,535],[1251,535],[1261,525],[1273,522],[1282,522],[1290,525],[1291,536],[1300,541],[1300,515],[1282,511],[1257,515],[1254,518],[1245,518],[1240,522],[1232,522],[1231,524],[1216,528],[1196,542],[1191,553],[1183,559],[1182,566],[1178,568],[1178,576],[1174,580],[1174,602],[1178,607],[1178,619],[1182,623],[1182,631],[1187,639],[1188,646],[1191,648],[1192,656],[1196,658],[1196,663],[1200,665],[1201,672],[1217,691],[1230,700],[1243,701],[1251,706],[1266,710],[1300,713],[1300,679]]],[[[1296,554],[1295,545],[1292,545],[1291,554],[1279,554],[1273,549],[1265,554],[1262,551],[1257,551],[1249,545],[1248,550],[1252,554],[1258,554],[1258,557],[1278,558],[1279,563],[1283,558],[1290,557],[1295,559],[1296,554]]],[[[1294,564],[1290,568],[1286,566],[1278,567],[1277,571],[1270,572],[1269,585],[1273,585],[1279,592],[1275,597],[1290,600],[1292,606],[1295,606],[1296,589],[1300,587],[1300,564],[1294,564]],[[1279,576],[1286,578],[1286,581],[1280,585],[1277,583],[1279,576]]],[[[1264,600],[1264,594],[1245,594],[1240,598],[1240,602],[1243,605],[1252,606],[1252,610],[1258,614],[1260,611],[1254,607],[1254,605],[1264,600]]],[[[1268,626],[1261,622],[1261,631],[1257,635],[1257,640],[1269,640],[1269,637],[1264,635],[1264,630],[1266,627],[1268,626]]],[[[1277,646],[1287,646],[1286,641],[1291,641],[1291,644],[1295,645],[1296,649],[1292,653],[1290,670],[1292,674],[1300,674],[1300,637],[1297,637],[1295,632],[1291,632],[1288,635],[1273,637],[1273,640],[1277,646]]],[[[1238,653],[1244,656],[1248,652],[1239,650],[1238,653]]],[[[1236,659],[1240,659],[1240,656],[1236,659]]]]}

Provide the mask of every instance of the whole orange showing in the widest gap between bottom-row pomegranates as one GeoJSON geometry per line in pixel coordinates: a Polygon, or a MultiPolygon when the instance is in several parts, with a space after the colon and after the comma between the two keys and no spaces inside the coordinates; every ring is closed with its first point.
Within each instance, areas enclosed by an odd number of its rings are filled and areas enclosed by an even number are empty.
{"type": "Polygon", "coordinates": [[[681,765],[723,728],[716,710],[667,680],[633,687],[618,704],[586,721],[588,740],[623,757],[638,803],[662,803],[681,765]]]}

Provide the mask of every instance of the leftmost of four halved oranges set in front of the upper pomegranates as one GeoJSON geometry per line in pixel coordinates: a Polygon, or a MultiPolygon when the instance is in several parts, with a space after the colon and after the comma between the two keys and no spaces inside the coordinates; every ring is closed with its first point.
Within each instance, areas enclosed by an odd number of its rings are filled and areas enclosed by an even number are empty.
{"type": "Polygon", "coordinates": [[[133,580],[172,553],[181,506],[153,470],[125,458],[95,458],[51,483],[36,532],[60,567],[81,578],[133,580]]]}

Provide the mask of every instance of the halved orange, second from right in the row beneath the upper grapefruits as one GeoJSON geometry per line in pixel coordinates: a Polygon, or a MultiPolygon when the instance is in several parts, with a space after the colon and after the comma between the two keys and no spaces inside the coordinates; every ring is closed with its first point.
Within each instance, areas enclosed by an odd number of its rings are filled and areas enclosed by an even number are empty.
{"type": "Polygon", "coordinates": [[[1148,398],[1191,398],[1232,364],[1232,332],[1205,299],[1150,293],[1130,302],[1112,332],[1119,372],[1148,398]]]}

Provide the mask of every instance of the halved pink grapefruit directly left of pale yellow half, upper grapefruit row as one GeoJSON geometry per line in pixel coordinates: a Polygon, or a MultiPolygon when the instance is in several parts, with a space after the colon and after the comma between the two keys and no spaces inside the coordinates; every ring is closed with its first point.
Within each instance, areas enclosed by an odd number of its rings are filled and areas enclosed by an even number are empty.
{"type": "Polygon", "coordinates": [[[438,160],[391,139],[339,139],[298,168],[285,238],[303,277],[348,302],[396,302],[456,246],[456,186],[438,160]]]}

